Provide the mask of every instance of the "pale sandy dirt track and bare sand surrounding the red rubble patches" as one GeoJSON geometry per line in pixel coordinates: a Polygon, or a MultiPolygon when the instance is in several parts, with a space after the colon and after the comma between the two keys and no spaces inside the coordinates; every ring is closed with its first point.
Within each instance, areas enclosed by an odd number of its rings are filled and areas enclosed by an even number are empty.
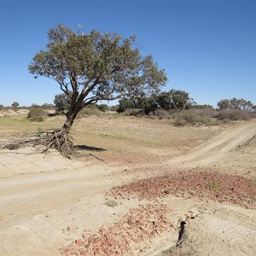
{"type": "MultiPolygon", "coordinates": [[[[133,198],[120,201],[119,207],[107,207],[105,193],[114,186],[188,168],[195,170],[195,166],[218,166],[218,171],[228,173],[236,159],[240,159],[241,165],[236,172],[255,178],[255,157],[251,158],[250,164],[247,163],[247,155],[256,155],[255,135],[255,120],[240,123],[190,149],[186,155],[170,156],[161,163],[144,162],[143,165],[134,162],[113,165],[108,158],[105,161],[90,158],[89,162],[63,160],[55,152],[28,154],[33,153],[32,148],[26,148],[28,151],[1,150],[0,170],[9,173],[1,179],[0,187],[0,234],[4,237],[0,241],[1,256],[58,255],[59,247],[67,246],[84,232],[96,234],[102,225],[111,227],[131,208],[147,203],[133,198]],[[245,154],[247,148],[249,152],[245,154]],[[12,173],[19,168],[23,174],[13,176],[12,173]],[[37,168],[38,172],[26,172],[32,168],[37,168]]],[[[106,154],[97,156],[104,160],[106,154]]],[[[141,241],[128,254],[157,255],[166,244],[166,249],[174,246],[181,219],[187,222],[187,238],[182,248],[169,249],[174,255],[187,255],[188,250],[195,251],[195,255],[256,253],[253,241],[256,236],[255,210],[171,195],[162,203],[172,208],[172,234],[152,237],[149,244],[157,241],[158,245],[154,248],[152,245],[148,247],[148,241],[143,241],[143,244],[141,241]],[[190,221],[191,214],[197,217],[190,221]],[[205,235],[199,236],[201,233],[205,235]],[[222,252],[219,252],[219,247],[222,247],[222,252]],[[137,251],[138,248],[141,249],[137,251]]]]}

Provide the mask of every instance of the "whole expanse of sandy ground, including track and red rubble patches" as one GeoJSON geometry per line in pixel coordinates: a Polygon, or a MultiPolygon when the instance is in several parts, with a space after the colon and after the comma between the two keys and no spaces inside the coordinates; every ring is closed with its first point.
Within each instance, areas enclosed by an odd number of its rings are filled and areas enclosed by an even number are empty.
{"type": "Polygon", "coordinates": [[[0,150],[1,256],[256,254],[256,120],[90,117],[73,135],[73,160],[0,150]]]}

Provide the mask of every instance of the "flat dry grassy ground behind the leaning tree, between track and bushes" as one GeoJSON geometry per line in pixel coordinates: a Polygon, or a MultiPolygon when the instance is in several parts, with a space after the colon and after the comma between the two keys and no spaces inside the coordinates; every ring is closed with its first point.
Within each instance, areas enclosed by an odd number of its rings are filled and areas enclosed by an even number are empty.
{"type": "MultiPolygon", "coordinates": [[[[38,123],[29,121],[26,115],[2,117],[0,137],[60,128],[64,119],[64,116],[51,116],[38,123]]],[[[136,118],[102,113],[100,117],[91,115],[76,119],[71,135],[74,145],[107,149],[106,152],[96,154],[114,153],[118,155],[117,159],[120,155],[125,157],[128,154],[136,154],[139,161],[150,154],[163,156],[186,152],[216,135],[220,129],[220,126],[177,127],[173,125],[173,119],[136,118]]]]}

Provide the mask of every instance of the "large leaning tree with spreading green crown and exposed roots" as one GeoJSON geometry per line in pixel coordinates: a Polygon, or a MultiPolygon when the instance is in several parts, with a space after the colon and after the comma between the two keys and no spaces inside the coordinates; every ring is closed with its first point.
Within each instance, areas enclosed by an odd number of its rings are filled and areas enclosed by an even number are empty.
{"type": "Polygon", "coordinates": [[[47,49],[33,57],[28,69],[35,78],[54,79],[71,101],[67,119],[54,131],[48,148],[55,145],[69,152],[67,135],[85,106],[148,93],[166,84],[165,71],[158,69],[151,55],[140,54],[135,36],[95,30],[84,34],[59,24],[49,30],[48,38],[47,49]]]}

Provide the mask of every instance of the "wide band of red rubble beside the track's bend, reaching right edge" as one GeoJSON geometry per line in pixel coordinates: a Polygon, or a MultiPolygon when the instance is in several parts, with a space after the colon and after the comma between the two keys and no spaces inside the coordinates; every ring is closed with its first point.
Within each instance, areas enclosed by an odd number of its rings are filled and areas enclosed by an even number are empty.
{"type": "Polygon", "coordinates": [[[154,200],[166,195],[211,199],[241,207],[256,207],[256,182],[247,177],[218,172],[178,172],[162,177],[150,177],[111,189],[114,198],[137,195],[154,200]]]}

